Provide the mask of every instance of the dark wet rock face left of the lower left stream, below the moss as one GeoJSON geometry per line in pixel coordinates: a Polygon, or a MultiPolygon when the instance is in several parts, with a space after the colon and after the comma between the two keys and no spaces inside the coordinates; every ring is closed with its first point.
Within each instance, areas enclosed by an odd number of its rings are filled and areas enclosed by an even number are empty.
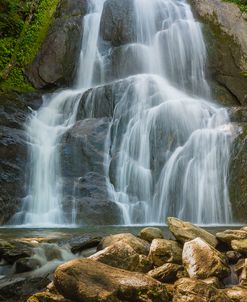
{"type": "Polygon", "coordinates": [[[39,93],[0,94],[0,224],[6,223],[20,208],[25,196],[27,137],[25,121],[28,107],[41,103],[39,93]]]}

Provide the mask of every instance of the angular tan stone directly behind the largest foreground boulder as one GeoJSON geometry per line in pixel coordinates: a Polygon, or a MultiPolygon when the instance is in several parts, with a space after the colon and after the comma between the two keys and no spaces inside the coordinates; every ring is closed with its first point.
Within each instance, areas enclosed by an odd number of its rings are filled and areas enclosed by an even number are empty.
{"type": "MultiPolygon", "coordinates": [[[[152,268],[148,258],[143,259],[125,242],[119,241],[89,257],[104,264],[132,272],[147,273],[152,268]]],[[[145,256],[144,256],[145,257],[145,256]]]]}

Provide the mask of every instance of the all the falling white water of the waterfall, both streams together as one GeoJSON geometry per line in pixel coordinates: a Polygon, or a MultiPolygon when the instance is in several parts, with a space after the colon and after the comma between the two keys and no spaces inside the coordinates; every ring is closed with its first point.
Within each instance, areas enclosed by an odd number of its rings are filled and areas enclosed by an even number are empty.
{"type": "MultiPolygon", "coordinates": [[[[210,102],[200,24],[184,0],[133,1],[137,42],[122,46],[122,52],[132,67],[138,58],[143,73],[129,72],[134,75],[113,84],[116,106],[105,144],[108,193],[122,210],[120,223],[163,223],[168,215],[199,224],[229,223],[231,127],[226,110],[210,102]],[[116,171],[110,176],[112,159],[116,171]]],[[[107,78],[103,66],[112,51],[105,55],[98,47],[104,0],[90,3],[75,89],[45,96],[27,124],[29,191],[16,224],[68,222],[61,206],[60,139],[76,121],[83,92],[103,84],[94,79],[96,64],[101,78],[107,78]]],[[[92,98],[86,104],[90,116],[92,98]]]]}

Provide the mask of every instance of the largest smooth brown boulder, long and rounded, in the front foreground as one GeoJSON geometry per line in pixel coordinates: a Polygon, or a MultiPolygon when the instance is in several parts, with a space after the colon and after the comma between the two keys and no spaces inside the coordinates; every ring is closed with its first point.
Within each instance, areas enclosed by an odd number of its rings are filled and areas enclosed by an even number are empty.
{"type": "Polygon", "coordinates": [[[92,259],[76,259],[60,265],[54,274],[54,284],[60,294],[72,301],[168,302],[162,283],[92,259]]]}

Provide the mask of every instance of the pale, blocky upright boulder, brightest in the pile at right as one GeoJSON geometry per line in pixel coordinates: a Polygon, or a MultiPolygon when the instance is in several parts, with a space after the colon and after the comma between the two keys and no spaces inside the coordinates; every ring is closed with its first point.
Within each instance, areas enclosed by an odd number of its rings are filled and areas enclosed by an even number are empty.
{"type": "Polygon", "coordinates": [[[221,279],[230,274],[224,255],[199,237],[184,244],[183,264],[190,278],[221,279]]]}

